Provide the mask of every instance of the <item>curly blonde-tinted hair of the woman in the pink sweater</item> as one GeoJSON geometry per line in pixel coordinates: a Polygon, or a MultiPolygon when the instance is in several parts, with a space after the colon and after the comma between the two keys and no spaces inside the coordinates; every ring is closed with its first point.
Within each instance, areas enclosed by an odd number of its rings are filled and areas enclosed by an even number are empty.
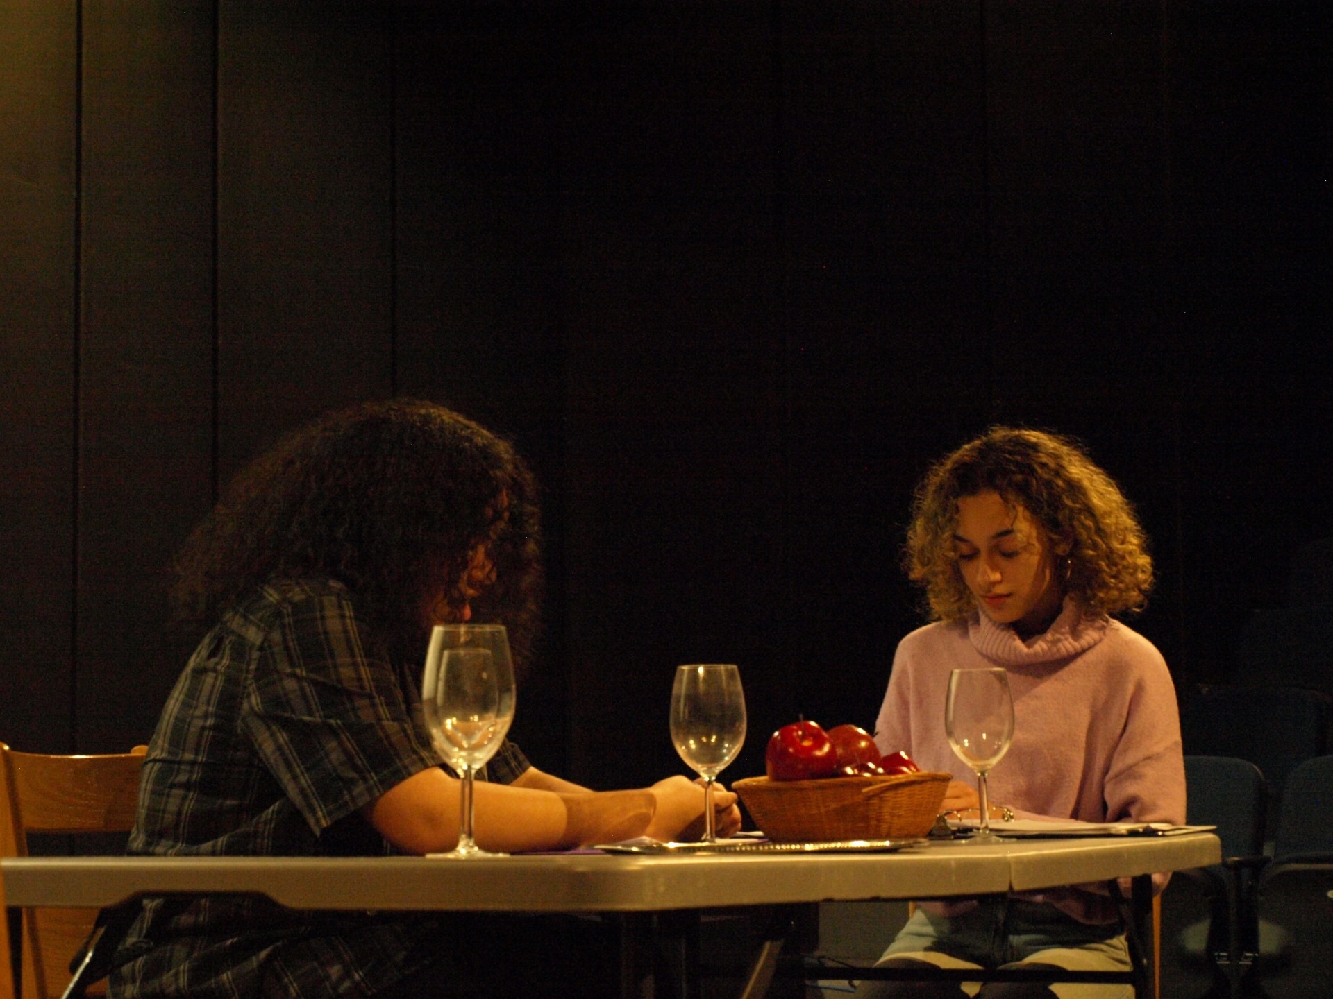
{"type": "Polygon", "coordinates": [[[953,534],[958,500],[996,492],[1041,525],[1058,555],[1064,590],[1092,611],[1144,607],[1153,585],[1148,539],[1129,501],[1068,437],[990,428],[932,468],[916,489],[904,567],[925,587],[932,619],[976,609],[958,571],[953,534]]]}

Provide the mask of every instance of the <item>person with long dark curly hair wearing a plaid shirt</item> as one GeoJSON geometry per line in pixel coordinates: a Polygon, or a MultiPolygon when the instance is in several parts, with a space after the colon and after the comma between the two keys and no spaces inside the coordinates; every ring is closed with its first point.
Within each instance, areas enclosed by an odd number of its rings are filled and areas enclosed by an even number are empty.
{"type": "MultiPolygon", "coordinates": [[[[433,625],[476,614],[507,626],[521,666],[539,542],[519,456],[431,402],[333,413],[256,460],[176,562],[181,613],[204,634],[149,743],[131,851],[452,848],[460,793],[421,717],[427,641],[433,625]]],[[[676,839],[702,822],[702,789],[684,777],[593,793],[509,742],[487,771],[475,795],[483,848],[676,839]]],[[[736,829],[734,795],[717,806],[720,826],[736,829]]],[[[148,899],[116,952],[111,994],[559,995],[561,962],[587,958],[575,943],[583,924],[548,922],[148,899]]]]}

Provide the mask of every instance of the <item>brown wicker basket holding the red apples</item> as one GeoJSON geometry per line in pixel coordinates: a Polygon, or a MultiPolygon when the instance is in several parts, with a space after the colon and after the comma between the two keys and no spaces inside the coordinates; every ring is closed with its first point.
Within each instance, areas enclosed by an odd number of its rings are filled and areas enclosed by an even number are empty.
{"type": "Polygon", "coordinates": [[[949,774],[829,777],[822,781],[732,783],[754,825],[780,843],[916,839],[934,825],[949,774]]]}

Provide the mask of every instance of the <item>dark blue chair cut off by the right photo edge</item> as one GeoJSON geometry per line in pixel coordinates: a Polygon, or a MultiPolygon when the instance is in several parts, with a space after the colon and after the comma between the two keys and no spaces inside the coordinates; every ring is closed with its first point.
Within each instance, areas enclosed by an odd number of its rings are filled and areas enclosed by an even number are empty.
{"type": "Polygon", "coordinates": [[[1269,999],[1333,994],[1333,757],[1297,766],[1258,878],[1253,979],[1269,999]]]}

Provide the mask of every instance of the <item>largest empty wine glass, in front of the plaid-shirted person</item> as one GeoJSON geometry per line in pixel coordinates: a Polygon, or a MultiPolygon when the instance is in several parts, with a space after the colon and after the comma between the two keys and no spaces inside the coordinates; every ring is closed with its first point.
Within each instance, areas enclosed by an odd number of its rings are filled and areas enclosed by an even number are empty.
{"type": "Polygon", "coordinates": [[[513,721],[513,663],[503,625],[436,625],[425,654],[421,707],[435,749],[461,778],[459,844],[443,856],[503,856],[472,838],[476,773],[513,721]]]}

